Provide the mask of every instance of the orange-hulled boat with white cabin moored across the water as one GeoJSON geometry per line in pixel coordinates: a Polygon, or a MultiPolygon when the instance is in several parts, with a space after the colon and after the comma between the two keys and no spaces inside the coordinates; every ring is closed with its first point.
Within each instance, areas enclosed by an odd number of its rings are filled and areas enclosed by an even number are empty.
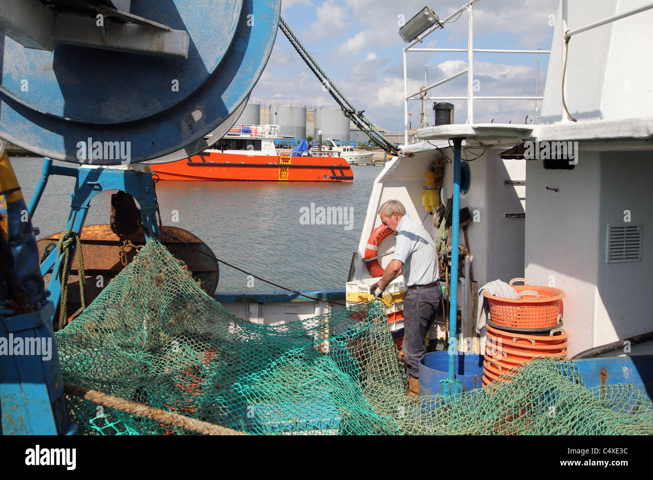
{"type": "Polygon", "coordinates": [[[281,153],[274,146],[275,138],[280,138],[278,125],[235,125],[212,148],[198,155],[150,166],[161,180],[354,180],[347,160],[328,152],[281,153]]]}

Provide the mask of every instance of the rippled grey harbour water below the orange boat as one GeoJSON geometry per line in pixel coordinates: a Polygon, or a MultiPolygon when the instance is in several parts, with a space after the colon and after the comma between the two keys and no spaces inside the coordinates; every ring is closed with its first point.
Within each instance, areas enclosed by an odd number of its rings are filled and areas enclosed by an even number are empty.
{"type": "MultiPolygon", "coordinates": [[[[42,159],[14,157],[12,165],[29,203],[42,159]]],[[[292,289],[343,288],[381,172],[352,169],[355,180],[342,183],[159,182],[161,218],[197,235],[219,259],[266,280],[292,289]]],[[[33,218],[39,238],[65,229],[73,189],[73,178],[50,177],[33,218]]],[[[108,223],[111,193],[91,200],[86,225],[108,223]]],[[[279,289],[220,264],[217,291],[238,290],[279,289]]]]}

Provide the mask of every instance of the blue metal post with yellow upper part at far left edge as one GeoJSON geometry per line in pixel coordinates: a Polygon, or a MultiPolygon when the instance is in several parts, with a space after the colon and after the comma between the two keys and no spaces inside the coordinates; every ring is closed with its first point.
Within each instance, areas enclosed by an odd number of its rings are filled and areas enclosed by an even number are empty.
{"type": "Polygon", "coordinates": [[[64,434],[70,420],[52,328],[54,304],[47,300],[20,185],[7,154],[0,156],[0,283],[12,300],[9,307],[0,295],[0,434],[64,434]]]}

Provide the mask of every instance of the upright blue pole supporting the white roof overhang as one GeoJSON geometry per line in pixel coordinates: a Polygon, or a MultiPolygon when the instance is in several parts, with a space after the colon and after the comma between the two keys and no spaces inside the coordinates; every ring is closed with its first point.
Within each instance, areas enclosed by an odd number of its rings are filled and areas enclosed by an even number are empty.
{"type": "Polygon", "coordinates": [[[444,395],[462,392],[456,380],[456,327],[458,325],[458,236],[460,230],[460,146],[462,138],[453,138],[453,212],[451,212],[451,285],[449,287],[449,375],[440,383],[444,395]],[[453,347],[453,348],[452,348],[453,347]]]}

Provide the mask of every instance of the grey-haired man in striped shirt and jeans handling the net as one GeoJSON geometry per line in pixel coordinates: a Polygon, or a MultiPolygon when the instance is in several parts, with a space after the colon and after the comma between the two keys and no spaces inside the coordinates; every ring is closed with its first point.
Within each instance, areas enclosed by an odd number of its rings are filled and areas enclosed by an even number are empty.
{"type": "Polygon", "coordinates": [[[383,225],[396,235],[392,260],[370,293],[381,298],[390,281],[404,274],[404,359],[408,366],[408,396],[419,394],[419,361],[424,357],[424,337],[432,325],[440,297],[438,253],[430,234],[406,214],[399,200],[388,200],[379,209],[383,225]]]}

